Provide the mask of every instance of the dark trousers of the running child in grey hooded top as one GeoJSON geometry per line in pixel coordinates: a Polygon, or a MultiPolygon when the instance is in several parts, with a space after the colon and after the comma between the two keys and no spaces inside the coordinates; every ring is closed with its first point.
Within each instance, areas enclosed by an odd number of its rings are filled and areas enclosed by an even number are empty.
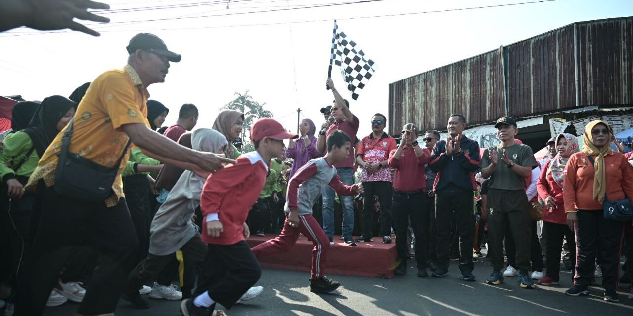
{"type": "MultiPolygon", "coordinates": [[[[196,269],[204,260],[204,257],[206,257],[207,246],[200,240],[200,235],[196,234],[196,236],[193,236],[191,240],[187,241],[187,243],[180,248],[180,251],[182,251],[185,267],[189,264],[196,269]]],[[[136,265],[136,267],[132,269],[132,272],[128,274],[125,293],[132,295],[135,292],[138,292],[139,288],[141,288],[143,284],[147,283],[147,281],[149,281],[152,277],[161,272],[167,264],[173,260],[173,257],[173,254],[153,255],[149,253],[147,258],[136,265]]],[[[191,292],[189,295],[191,295],[191,292]]]]}

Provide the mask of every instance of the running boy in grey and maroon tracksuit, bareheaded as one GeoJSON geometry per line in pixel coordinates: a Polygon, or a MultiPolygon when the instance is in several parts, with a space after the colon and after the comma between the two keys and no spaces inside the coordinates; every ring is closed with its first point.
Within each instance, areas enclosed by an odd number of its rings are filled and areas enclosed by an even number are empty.
{"type": "Polygon", "coordinates": [[[323,277],[323,267],[330,245],[325,231],[312,217],[312,205],[327,185],[339,195],[354,195],[363,191],[360,184],[344,185],[336,173],[336,168],[332,166],[347,159],[349,146],[349,136],[343,131],[334,131],[327,138],[327,155],[308,161],[290,179],[285,204],[287,219],[281,234],[252,249],[258,258],[275,255],[289,252],[300,233],[308,237],[314,245],[310,270],[310,291],[314,293],[330,293],[341,286],[340,283],[323,277]]]}

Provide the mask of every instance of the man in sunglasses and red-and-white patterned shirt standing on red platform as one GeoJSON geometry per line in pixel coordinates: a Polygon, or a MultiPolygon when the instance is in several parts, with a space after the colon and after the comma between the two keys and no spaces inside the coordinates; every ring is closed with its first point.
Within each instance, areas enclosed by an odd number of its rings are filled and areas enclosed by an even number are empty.
{"type": "Polygon", "coordinates": [[[356,152],[356,164],[363,167],[361,181],[365,187],[363,200],[363,235],[359,243],[373,241],[373,196],[380,202],[380,235],[382,243],[391,243],[391,171],[389,153],[396,149],[396,140],[384,132],[387,118],[380,113],[373,114],[372,133],[361,140],[356,152]]]}

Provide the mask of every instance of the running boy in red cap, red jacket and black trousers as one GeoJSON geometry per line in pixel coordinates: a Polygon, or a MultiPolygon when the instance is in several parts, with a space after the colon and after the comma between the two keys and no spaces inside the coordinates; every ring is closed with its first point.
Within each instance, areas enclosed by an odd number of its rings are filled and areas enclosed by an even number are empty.
{"type": "Polygon", "coordinates": [[[206,179],[200,207],[204,216],[202,241],[209,249],[194,298],[180,304],[185,316],[223,315],[214,311],[216,303],[231,308],[260,279],[260,264],[244,241],[250,235],[244,221],[260,196],[268,162],[282,151],[283,140],[297,137],[275,119],[260,119],[251,129],[255,151],[241,155],[236,164],[206,179]]]}

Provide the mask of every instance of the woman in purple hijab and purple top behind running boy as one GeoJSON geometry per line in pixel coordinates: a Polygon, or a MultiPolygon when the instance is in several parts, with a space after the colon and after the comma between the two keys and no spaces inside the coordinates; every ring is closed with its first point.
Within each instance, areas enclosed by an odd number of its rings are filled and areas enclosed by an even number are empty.
{"type": "Polygon", "coordinates": [[[285,150],[285,156],[292,158],[289,178],[292,178],[294,173],[308,161],[321,156],[321,153],[316,150],[315,131],[315,124],[312,123],[311,119],[304,119],[299,123],[301,137],[297,140],[290,140],[288,149],[285,150]]]}

